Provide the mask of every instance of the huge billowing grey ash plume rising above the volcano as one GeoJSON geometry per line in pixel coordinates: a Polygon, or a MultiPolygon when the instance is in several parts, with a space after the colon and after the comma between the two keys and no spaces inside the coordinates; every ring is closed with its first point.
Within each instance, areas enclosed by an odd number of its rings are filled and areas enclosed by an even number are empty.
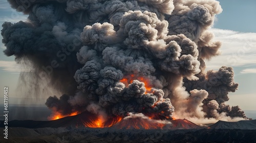
{"type": "Polygon", "coordinates": [[[63,94],[47,99],[50,119],[86,110],[105,120],[129,113],[247,119],[225,103],[238,89],[233,69],[205,71],[204,60],[220,53],[221,43],[207,31],[222,11],[218,1],[8,2],[28,19],[3,24],[4,53],[32,63],[19,82],[30,94],[45,96],[40,92],[48,88],[63,94]]]}

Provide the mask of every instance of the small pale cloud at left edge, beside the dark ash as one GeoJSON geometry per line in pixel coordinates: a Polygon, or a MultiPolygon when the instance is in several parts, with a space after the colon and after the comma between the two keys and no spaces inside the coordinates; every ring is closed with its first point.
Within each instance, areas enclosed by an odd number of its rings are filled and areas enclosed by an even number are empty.
{"type": "Polygon", "coordinates": [[[0,61],[0,68],[7,72],[19,73],[21,71],[30,71],[31,69],[24,69],[21,65],[14,61],[0,61]]]}

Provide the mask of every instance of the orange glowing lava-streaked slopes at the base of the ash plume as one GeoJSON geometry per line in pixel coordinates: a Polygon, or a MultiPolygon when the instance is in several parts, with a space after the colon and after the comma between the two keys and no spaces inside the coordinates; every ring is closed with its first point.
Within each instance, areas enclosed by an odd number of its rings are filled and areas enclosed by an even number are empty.
{"type": "MultiPolygon", "coordinates": [[[[76,115],[77,112],[71,113],[69,116],[76,115]]],[[[53,116],[53,120],[63,118],[57,112],[53,116]]],[[[114,128],[114,129],[199,129],[200,126],[186,120],[186,119],[165,119],[159,118],[156,114],[143,115],[142,113],[129,114],[126,117],[105,117],[102,115],[95,115],[90,112],[82,112],[72,119],[74,127],[89,127],[89,128],[114,128]]],[[[62,121],[67,121],[63,119],[62,121]]],[[[61,122],[62,122],[61,121],[61,122]]]]}

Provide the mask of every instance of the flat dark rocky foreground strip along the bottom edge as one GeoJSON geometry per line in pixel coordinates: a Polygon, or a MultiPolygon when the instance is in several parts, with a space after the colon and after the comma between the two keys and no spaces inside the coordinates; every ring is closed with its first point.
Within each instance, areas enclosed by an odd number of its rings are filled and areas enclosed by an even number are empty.
{"type": "Polygon", "coordinates": [[[0,142],[256,142],[256,130],[9,128],[8,139],[1,137],[0,142]]]}

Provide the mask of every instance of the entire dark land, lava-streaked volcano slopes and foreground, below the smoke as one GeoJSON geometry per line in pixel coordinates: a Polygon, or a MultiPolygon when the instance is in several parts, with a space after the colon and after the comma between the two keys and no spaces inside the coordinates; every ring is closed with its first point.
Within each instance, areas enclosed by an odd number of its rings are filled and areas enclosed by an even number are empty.
{"type": "MultiPolygon", "coordinates": [[[[3,125],[0,124],[1,129],[3,125]]],[[[203,128],[187,119],[153,120],[135,114],[100,124],[97,115],[82,112],[52,121],[14,120],[8,125],[11,136],[8,140],[0,138],[0,142],[255,142],[256,139],[256,120],[219,121],[203,128]]]]}

